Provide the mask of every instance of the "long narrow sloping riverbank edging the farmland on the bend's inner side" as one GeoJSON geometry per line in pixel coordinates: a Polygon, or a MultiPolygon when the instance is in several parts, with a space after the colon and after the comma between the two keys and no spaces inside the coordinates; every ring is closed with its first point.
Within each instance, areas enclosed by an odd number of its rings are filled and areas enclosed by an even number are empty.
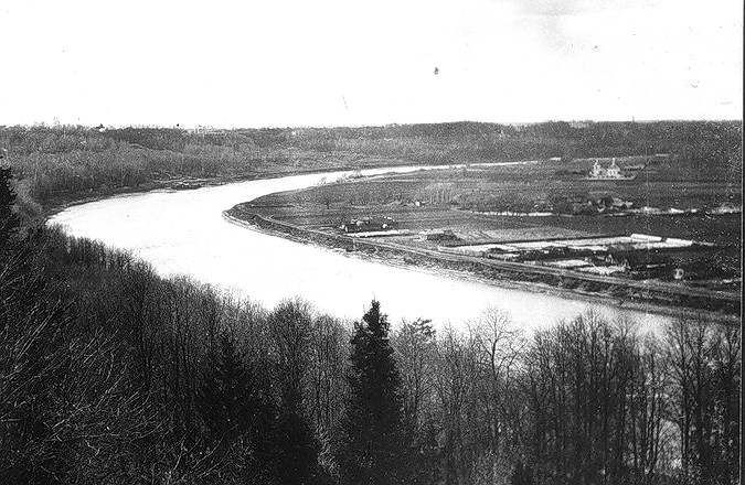
{"type": "Polygon", "coordinates": [[[498,285],[508,289],[542,292],[561,298],[583,300],[667,316],[682,312],[704,313],[707,319],[721,323],[738,322],[739,300],[727,294],[675,294],[669,289],[653,285],[625,284],[622,280],[592,278],[587,276],[542,268],[528,268],[525,265],[504,263],[493,260],[455,255],[441,255],[434,251],[401,247],[380,241],[361,241],[343,235],[332,235],[319,230],[299,227],[289,223],[272,219],[251,213],[241,205],[223,212],[223,217],[233,224],[256,229],[265,234],[279,236],[296,242],[312,244],[348,255],[360,255],[386,265],[412,267],[466,280],[498,285]]]}

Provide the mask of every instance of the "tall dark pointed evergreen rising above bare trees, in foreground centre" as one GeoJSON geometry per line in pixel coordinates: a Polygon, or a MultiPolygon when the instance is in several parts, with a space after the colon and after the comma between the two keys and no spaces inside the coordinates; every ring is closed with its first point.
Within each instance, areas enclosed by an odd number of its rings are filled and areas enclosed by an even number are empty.
{"type": "Polygon", "coordinates": [[[387,316],[380,303],[354,325],[350,395],[340,450],[342,481],[389,485],[404,482],[405,432],[400,376],[389,343],[387,316]]]}

